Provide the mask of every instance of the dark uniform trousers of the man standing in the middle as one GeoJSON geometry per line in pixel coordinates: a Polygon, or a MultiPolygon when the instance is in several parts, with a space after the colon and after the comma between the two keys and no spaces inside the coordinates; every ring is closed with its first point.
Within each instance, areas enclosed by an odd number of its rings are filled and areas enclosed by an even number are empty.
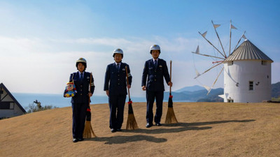
{"type": "Polygon", "coordinates": [[[126,98],[127,95],[109,96],[110,128],[122,128],[126,98]]]}

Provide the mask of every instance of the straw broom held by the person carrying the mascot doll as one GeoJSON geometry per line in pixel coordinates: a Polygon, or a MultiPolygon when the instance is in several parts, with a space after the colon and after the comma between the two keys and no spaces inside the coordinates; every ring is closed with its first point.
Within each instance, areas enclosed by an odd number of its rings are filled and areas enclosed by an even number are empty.
{"type": "MultiPolygon", "coordinates": [[[[90,91],[92,89],[92,73],[90,73],[90,91]]],[[[88,98],[88,107],[87,107],[87,114],[86,114],[86,121],[85,121],[85,129],[83,130],[83,137],[84,138],[91,138],[96,137],[92,130],[92,124],[90,123],[92,119],[92,113],[90,112],[90,96],[88,98]]]]}

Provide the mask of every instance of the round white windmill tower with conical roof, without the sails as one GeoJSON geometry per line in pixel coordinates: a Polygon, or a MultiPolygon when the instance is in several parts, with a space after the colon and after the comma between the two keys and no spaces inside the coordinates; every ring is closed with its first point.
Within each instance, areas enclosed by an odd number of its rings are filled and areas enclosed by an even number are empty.
{"type": "Polygon", "coordinates": [[[272,59],[244,40],[224,64],[224,102],[259,103],[271,99],[272,59]]]}

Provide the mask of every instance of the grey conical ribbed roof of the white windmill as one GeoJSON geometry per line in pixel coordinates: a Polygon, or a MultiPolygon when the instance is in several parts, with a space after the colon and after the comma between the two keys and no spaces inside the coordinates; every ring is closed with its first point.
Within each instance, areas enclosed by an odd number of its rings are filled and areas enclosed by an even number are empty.
{"type": "MultiPolygon", "coordinates": [[[[244,40],[225,61],[239,61],[239,60],[262,60],[272,61],[265,53],[263,53],[258,47],[253,45],[249,40],[244,40]]],[[[272,61],[273,62],[273,61],[272,61]]]]}

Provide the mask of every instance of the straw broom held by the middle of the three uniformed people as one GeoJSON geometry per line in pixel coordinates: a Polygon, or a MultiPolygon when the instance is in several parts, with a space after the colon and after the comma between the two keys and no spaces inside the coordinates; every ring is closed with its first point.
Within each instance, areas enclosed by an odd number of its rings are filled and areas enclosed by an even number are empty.
{"type": "MultiPolygon", "coordinates": [[[[125,66],[125,71],[127,73],[127,66],[125,66]]],[[[128,82],[128,73],[127,73],[127,84],[128,82]]],[[[128,88],[127,88],[128,89],[128,88]]],[[[127,117],[127,130],[135,130],[138,128],[136,119],[134,117],[133,109],[132,109],[132,100],[130,99],[130,89],[128,89],[128,117],[127,117]]]]}

